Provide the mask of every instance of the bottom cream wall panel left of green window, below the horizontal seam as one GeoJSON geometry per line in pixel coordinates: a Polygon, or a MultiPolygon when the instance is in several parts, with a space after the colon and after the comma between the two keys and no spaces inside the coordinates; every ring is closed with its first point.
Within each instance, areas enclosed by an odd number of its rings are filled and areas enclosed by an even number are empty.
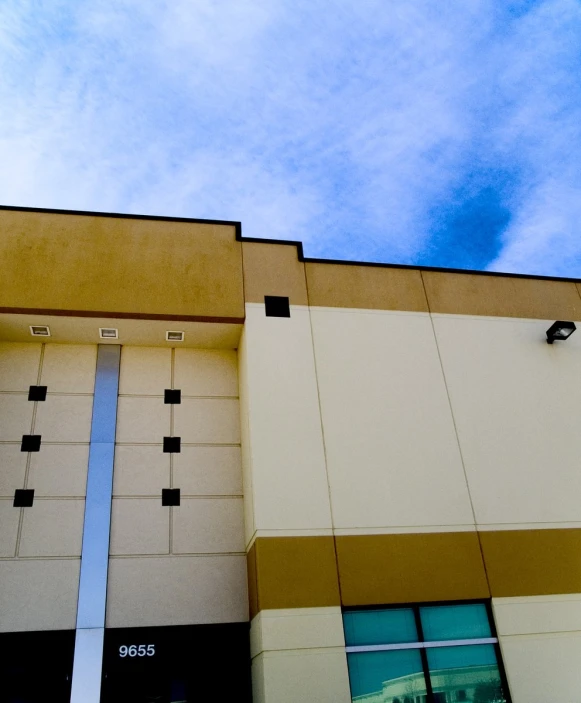
{"type": "Polygon", "coordinates": [[[267,652],[259,658],[266,703],[351,703],[345,649],[267,652]]]}

